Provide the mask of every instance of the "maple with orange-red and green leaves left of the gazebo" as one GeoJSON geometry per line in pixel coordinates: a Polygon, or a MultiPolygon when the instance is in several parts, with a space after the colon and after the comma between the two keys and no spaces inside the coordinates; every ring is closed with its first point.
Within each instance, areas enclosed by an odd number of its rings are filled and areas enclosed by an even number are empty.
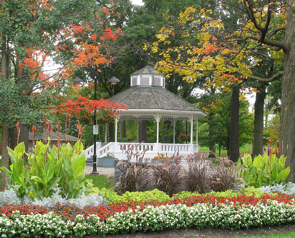
{"type": "Polygon", "coordinates": [[[89,112],[98,107],[113,113],[121,107],[85,98],[65,101],[60,93],[72,85],[78,68],[111,64],[116,57],[112,52],[121,50],[112,42],[124,34],[109,24],[110,18],[120,17],[116,7],[112,1],[103,6],[96,1],[1,1],[2,165],[8,166],[6,147],[9,142],[12,145],[10,131],[15,122],[20,120],[27,127],[41,117],[40,108],[58,110],[60,106],[76,113],[75,108],[89,112]]]}

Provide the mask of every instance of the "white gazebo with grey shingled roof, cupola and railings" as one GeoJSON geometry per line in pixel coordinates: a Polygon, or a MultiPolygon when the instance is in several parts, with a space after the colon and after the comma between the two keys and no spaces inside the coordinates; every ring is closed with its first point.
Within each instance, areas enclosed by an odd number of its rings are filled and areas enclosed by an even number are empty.
{"type": "MultiPolygon", "coordinates": [[[[115,142],[110,142],[101,147],[97,144],[97,157],[103,157],[107,153],[112,153],[118,159],[124,159],[123,151],[126,149],[126,143],[117,142],[117,123],[118,120],[132,119],[137,121],[138,126],[141,120],[154,120],[157,124],[157,134],[155,143],[141,143],[139,151],[149,149],[145,156],[153,158],[158,153],[186,155],[197,152],[198,145],[198,117],[204,117],[206,114],[199,108],[188,103],[182,98],[176,96],[165,89],[165,76],[157,73],[154,68],[146,66],[131,75],[131,87],[110,99],[120,104],[128,106],[128,110],[118,112],[118,119],[115,121],[115,142]],[[169,120],[173,123],[173,143],[159,142],[159,122],[160,120],[169,120]],[[191,121],[190,143],[175,144],[175,123],[176,121],[191,121]],[[193,144],[193,121],[196,121],[196,144],[193,144]]],[[[130,144],[130,143],[128,143],[130,144]]],[[[138,144],[131,143],[132,145],[138,144]]],[[[86,158],[93,154],[93,146],[85,150],[86,158]]]]}

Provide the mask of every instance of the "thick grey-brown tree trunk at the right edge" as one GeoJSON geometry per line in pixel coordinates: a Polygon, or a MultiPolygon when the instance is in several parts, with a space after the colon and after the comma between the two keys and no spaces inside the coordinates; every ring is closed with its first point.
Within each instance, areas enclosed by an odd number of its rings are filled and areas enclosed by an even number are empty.
{"type": "Polygon", "coordinates": [[[282,86],[280,117],[280,154],[287,156],[286,167],[290,166],[289,181],[295,181],[295,0],[288,1],[285,43],[290,46],[284,52],[284,77],[282,86]]]}

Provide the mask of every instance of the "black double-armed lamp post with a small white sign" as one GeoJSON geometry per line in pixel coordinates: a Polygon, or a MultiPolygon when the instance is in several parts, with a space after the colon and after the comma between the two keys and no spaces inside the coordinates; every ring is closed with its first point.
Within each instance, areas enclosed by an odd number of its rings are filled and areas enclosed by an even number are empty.
{"type": "MultiPolygon", "coordinates": [[[[116,85],[118,82],[121,82],[119,79],[117,79],[115,77],[115,71],[113,70],[113,68],[111,68],[110,66],[103,66],[101,67],[99,70],[101,71],[103,68],[110,68],[113,72],[113,76],[112,78],[110,78],[108,80],[109,83],[113,84],[113,85],[116,85]]],[[[97,72],[98,68],[97,66],[95,66],[95,68],[90,68],[90,67],[82,67],[80,69],[81,70],[88,70],[91,74],[91,77],[93,78],[94,80],[94,100],[97,99],[97,79],[98,77],[100,77],[100,73],[97,72]]],[[[81,82],[83,82],[83,80],[79,77],[75,77],[72,82],[75,84],[75,85],[79,85],[81,82]]],[[[93,121],[94,121],[94,125],[93,125],[93,130],[95,129],[96,125],[97,125],[97,122],[96,122],[96,109],[94,110],[94,113],[93,113],[93,121]]],[[[96,170],[96,163],[97,163],[97,156],[96,156],[96,132],[93,131],[93,170],[91,172],[91,174],[94,174],[94,175],[97,175],[98,172],[96,170]]]]}

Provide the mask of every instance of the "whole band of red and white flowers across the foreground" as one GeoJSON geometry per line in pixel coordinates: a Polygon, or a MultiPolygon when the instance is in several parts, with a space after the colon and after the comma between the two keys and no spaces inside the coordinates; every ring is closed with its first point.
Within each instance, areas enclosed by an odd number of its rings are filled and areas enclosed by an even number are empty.
{"type": "Polygon", "coordinates": [[[65,237],[99,235],[194,226],[240,227],[295,221],[294,196],[278,194],[232,198],[195,196],[166,203],[122,202],[79,209],[71,205],[3,205],[2,237],[65,237]]]}

